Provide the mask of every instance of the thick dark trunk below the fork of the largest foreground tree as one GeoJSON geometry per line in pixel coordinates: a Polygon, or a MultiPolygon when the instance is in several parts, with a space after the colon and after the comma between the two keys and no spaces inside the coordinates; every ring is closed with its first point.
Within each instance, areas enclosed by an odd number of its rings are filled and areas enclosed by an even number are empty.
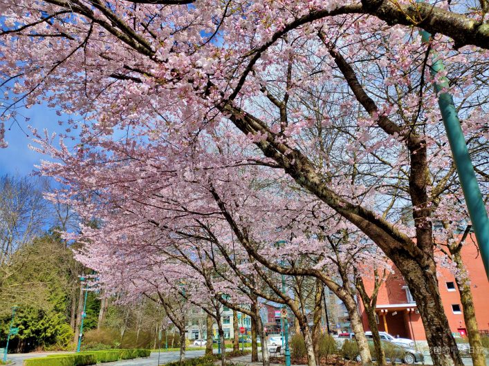
{"type": "Polygon", "coordinates": [[[396,267],[403,274],[416,300],[434,365],[462,366],[459,349],[456,347],[441,302],[433,258],[414,260],[399,254],[395,261],[396,267]]]}

